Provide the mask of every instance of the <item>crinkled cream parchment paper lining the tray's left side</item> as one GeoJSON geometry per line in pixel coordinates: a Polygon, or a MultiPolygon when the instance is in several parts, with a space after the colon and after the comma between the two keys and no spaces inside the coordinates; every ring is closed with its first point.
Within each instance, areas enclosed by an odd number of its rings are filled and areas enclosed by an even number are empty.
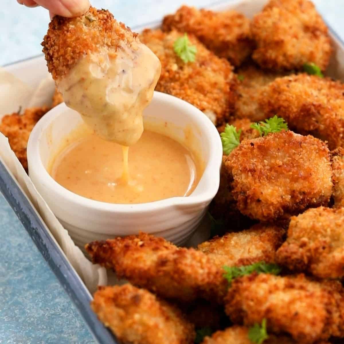
{"type": "MultiPolygon", "coordinates": [[[[5,114],[18,111],[20,106],[25,109],[28,106],[51,105],[51,97],[54,89],[54,82],[49,75],[34,90],[13,75],[0,69],[0,93],[3,94],[0,98],[0,119],[5,114]]],[[[26,196],[41,215],[51,235],[55,238],[58,245],[60,245],[67,259],[84,281],[90,293],[96,290],[97,285],[107,284],[106,269],[100,267],[98,264],[93,265],[74,244],[67,230],[63,228],[42,196],[37,192],[31,179],[11,150],[8,139],[2,133],[0,133],[0,159],[12,172],[15,179],[17,179],[26,196]]]]}

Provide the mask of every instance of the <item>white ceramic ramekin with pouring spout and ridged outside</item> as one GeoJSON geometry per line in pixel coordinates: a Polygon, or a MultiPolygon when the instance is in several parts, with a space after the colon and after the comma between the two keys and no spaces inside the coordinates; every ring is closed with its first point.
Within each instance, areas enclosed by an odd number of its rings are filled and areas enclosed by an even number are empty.
{"type": "Polygon", "coordinates": [[[213,123],[189,103],[160,92],[154,92],[143,115],[144,122],[172,123],[174,135],[180,139],[191,130],[205,169],[190,196],[143,204],[110,204],[79,196],[55,182],[47,172],[52,154],[82,122],[80,115],[65,104],[43,116],[30,135],[30,178],[80,247],[92,240],[137,234],[140,230],[182,245],[196,230],[218,190],[222,144],[213,123]]]}

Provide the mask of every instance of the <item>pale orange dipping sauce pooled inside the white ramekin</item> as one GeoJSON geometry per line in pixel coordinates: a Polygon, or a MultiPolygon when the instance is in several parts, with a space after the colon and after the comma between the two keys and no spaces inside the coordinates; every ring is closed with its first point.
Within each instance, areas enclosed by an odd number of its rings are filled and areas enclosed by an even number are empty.
{"type": "Polygon", "coordinates": [[[129,150],[87,133],[72,139],[52,161],[51,176],[66,189],[102,202],[133,204],[188,196],[197,186],[202,164],[181,143],[150,130],[129,150]],[[128,173],[127,175],[126,173],[128,173]]]}

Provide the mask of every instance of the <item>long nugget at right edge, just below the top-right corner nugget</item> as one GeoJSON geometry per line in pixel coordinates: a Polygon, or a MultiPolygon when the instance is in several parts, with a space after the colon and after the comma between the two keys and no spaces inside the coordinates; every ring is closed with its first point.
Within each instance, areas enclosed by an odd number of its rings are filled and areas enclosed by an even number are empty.
{"type": "Polygon", "coordinates": [[[299,74],[278,78],[264,88],[259,106],[266,118],[282,117],[291,130],[344,147],[344,84],[299,74]]]}

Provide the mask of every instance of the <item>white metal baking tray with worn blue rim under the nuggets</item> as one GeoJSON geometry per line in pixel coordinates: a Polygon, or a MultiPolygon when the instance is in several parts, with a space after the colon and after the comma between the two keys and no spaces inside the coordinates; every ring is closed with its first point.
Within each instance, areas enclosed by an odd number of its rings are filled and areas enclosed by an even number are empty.
{"type": "MultiPolygon", "coordinates": [[[[217,1],[206,8],[223,11],[236,9],[249,17],[262,7],[264,0],[217,1]]],[[[140,32],[144,28],[156,28],[161,21],[155,21],[133,27],[132,30],[140,32]]],[[[329,25],[328,25],[329,26],[329,25]]],[[[344,73],[344,42],[329,26],[331,38],[335,48],[333,61],[330,64],[329,75],[343,80],[344,73]]],[[[24,82],[37,87],[46,77],[47,69],[43,55],[35,56],[23,61],[12,63],[4,68],[24,82]]],[[[0,159],[0,191],[19,220],[40,250],[44,259],[55,273],[72,302],[83,317],[89,331],[99,344],[120,344],[115,336],[97,319],[90,308],[92,295],[85,287],[74,268],[69,263],[64,252],[44,224],[31,201],[26,197],[21,186],[15,180],[7,166],[0,159]]]]}

